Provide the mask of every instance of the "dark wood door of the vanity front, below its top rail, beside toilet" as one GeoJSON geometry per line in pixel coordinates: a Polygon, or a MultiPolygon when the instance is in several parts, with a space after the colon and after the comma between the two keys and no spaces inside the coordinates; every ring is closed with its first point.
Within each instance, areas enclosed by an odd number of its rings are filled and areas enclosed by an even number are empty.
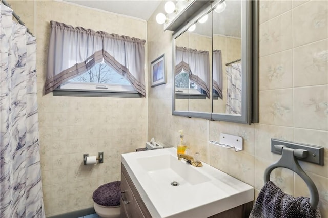
{"type": "Polygon", "coordinates": [[[121,173],[121,214],[126,217],[133,218],[144,218],[141,209],[134,198],[131,188],[123,175],[121,173]]]}

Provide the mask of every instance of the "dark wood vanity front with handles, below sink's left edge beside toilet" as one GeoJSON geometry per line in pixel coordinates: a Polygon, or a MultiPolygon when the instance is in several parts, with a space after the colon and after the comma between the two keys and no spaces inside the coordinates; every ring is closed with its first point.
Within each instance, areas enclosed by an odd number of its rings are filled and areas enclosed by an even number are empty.
{"type": "Polygon", "coordinates": [[[121,218],[151,218],[144,201],[121,164],[121,218]]]}

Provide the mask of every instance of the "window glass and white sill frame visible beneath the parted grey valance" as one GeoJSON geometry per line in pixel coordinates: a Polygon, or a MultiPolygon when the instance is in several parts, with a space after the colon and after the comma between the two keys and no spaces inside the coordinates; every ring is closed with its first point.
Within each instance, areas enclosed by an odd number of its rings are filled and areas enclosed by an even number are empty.
{"type": "Polygon", "coordinates": [[[95,64],[87,72],[60,85],[54,92],[54,95],[76,96],[74,94],[77,96],[97,97],[139,96],[130,82],[104,61],[95,64]]]}

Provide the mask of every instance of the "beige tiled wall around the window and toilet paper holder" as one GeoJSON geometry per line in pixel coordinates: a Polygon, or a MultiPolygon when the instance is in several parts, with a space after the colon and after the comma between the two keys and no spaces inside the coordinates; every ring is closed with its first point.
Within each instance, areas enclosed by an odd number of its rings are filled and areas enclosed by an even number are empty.
{"type": "MultiPolygon", "coordinates": [[[[146,21],[59,1],[10,1],[37,38],[37,85],[46,216],[93,207],[92,193],[120,180],[120,155],[144,147],[145,98],[43,96],[50,20],[146,39],[146,21]],[[83,154],[104,163],[83,165],[83,154]]],[[[147,50],[147,44],[146,50],[147,50]]],[[[146,67],[147,70],[147,67],[146,67]]]]}

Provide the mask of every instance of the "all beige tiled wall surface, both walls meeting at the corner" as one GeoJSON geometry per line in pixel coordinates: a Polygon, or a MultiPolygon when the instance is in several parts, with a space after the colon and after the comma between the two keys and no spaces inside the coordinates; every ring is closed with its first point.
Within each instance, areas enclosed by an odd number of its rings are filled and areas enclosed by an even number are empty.
{"type": "MultiPolygon", "coordinates": [[[[263,186],[265,167],[279,159],[270,152],[271,138],[323,146],[324,161],[328,163],[327,1],[259,1],[260,122],[252,125],[172,116],[172,32],[163,32],[162,25],[155,21],[163,4],[148,20],[146,29],[144,21],[62,2],[10,3],[38,40],[40,145],[47,216],[92,206],[90,194],[94,188],[119,179],[121,152],[143,146],[147,131],[148,140],[155,137],[165,146],[176,146],[178,130],[183,129],[187,144],[201,153],[204,162],[254,186],[255,194],[263,186]],[[167,83],[154,88],[149,84],[148,102],[42,96],[52,19],[147,38],[147,66],[165,53],[167,83]],[[234,152],[210,146],[208,141],[218,140],[221,132],[242,136],[244,150],[234,152]],[[114,167],[81,165],[79,157],[84,152],[95,155],[100,149],[106,159],[115,163],[114,167]]],[[[322,216],[327,217],[328,164],[301,165],[317,185],[319,208],[322,216]]],[[[309,195],[305,183],[289,170],[275,169],[271,180],[287,193],[309,195]]]]}

